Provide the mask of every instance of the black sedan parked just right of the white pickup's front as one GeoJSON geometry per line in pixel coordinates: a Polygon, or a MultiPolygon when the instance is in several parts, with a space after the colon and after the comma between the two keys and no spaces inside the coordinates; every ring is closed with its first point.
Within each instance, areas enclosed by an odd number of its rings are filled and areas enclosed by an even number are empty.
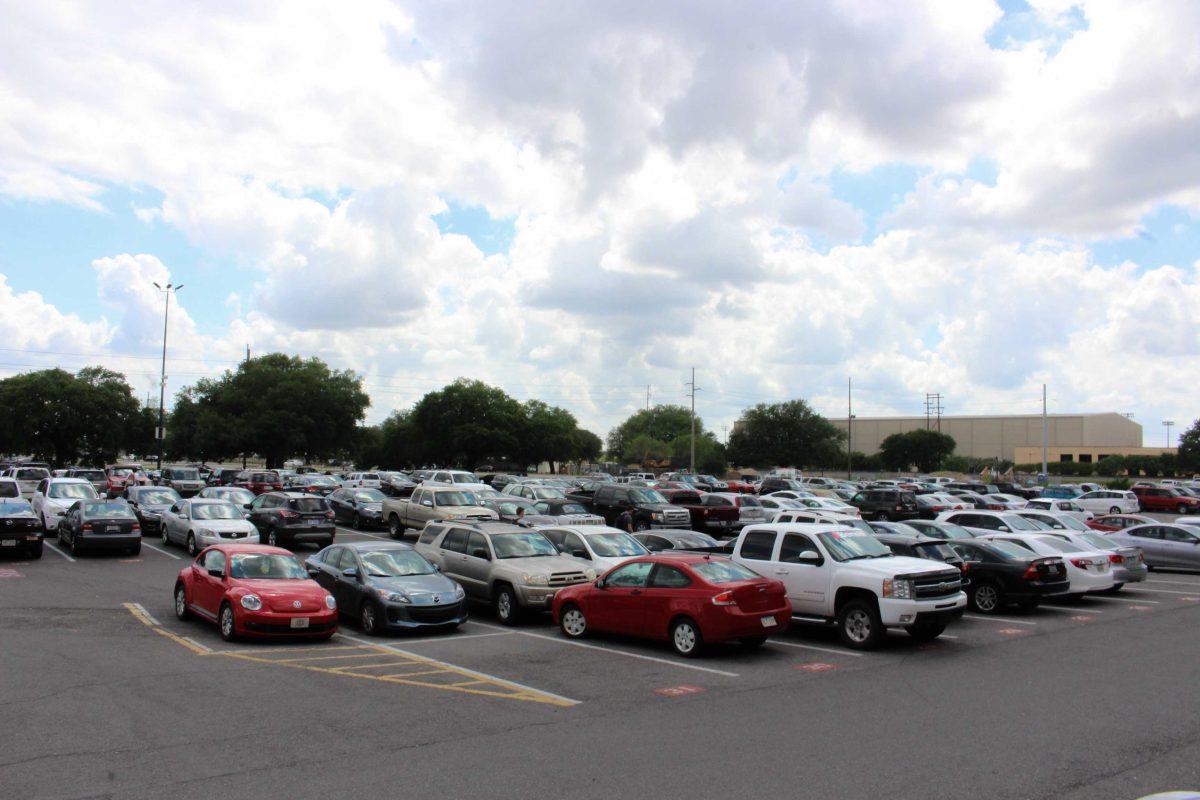
{"type": "Polygon", "coordinates": [[[949,546],[967,561],[967,602],[982,614],[996,614],[1010,603],[1032,609],[1070,589],[1061,558],[1039,557],[1012,542],[984,539],[956,539],[949,546]]]}

